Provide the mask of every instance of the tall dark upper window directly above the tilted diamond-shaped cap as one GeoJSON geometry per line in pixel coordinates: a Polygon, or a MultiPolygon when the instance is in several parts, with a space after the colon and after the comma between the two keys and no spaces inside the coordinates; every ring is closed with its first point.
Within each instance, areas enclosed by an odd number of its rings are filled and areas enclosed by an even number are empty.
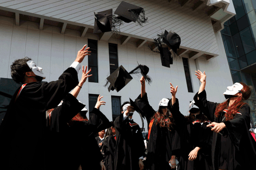
{"type": "Polygon", "coordinates": [[[110,74],[118,68],[117,44],[109,43],[110,74]]]}

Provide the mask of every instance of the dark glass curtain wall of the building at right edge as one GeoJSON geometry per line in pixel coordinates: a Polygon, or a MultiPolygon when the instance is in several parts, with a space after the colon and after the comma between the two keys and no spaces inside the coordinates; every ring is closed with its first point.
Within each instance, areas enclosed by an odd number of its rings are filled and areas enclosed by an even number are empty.
{"type": "Polygon", "coordinates": [[[251,121],[256,128],[256,73],[241,69],[256,63],[256,0],[232,0],[236,15],[224,23],[222,39],[233,83],[244,82],[251,90],[246,101],[251,107],[251,121]]]}

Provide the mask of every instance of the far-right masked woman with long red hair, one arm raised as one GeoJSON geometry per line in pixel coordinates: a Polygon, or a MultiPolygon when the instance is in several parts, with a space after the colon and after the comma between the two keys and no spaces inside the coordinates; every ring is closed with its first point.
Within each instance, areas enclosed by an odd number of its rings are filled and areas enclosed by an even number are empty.
{"type": "Polygon", "coordinates": [[[212,121],[212,163],[214,170],[255,169],[256,143],[250,135],[250,107],[244,103],[251,89],[244,83],[227,87],[223,103],[209,102],[204,90],[205,72],[196,71],[201,82],[194,100],[205,116],[212,121]]]}

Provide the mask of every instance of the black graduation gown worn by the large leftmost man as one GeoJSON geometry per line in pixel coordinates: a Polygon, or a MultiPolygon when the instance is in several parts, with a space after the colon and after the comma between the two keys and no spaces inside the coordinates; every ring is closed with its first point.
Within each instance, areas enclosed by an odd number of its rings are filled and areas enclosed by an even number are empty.
{"type": "Polygon", "coordinates": [[[57,81],[28,83],[14,102],[16,90],[0,126],[0,169],[44,169],[45,111],[78,83],[76,70],[68,68],[57,81]]]}

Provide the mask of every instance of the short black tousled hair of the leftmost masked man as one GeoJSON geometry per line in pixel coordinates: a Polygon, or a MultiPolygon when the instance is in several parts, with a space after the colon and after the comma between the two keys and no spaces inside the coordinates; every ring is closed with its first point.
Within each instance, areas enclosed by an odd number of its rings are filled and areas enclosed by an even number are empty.
{"type": "Polygon", "coordinates": [[[25,57],[22,59],[15,60],[11,65],[11,76],[16,83],[23,83],[25,73],[31,71],[27,62],[32,60],[31,58],[25,57]]]}

